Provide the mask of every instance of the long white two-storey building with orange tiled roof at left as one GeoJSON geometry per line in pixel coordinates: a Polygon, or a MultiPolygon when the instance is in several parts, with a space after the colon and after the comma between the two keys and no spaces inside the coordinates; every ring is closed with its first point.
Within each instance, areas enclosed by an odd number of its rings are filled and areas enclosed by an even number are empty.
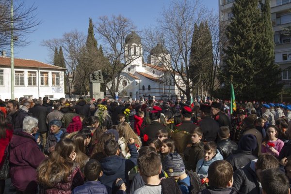
{"type": "MultiPolygon", "coordinates": [[[[14,59],[16,98],[65,97],[65,68],[36,60],[14,59]]],[[[0,57],[0,99],[11,98],[11,59],[0,57]]]]}

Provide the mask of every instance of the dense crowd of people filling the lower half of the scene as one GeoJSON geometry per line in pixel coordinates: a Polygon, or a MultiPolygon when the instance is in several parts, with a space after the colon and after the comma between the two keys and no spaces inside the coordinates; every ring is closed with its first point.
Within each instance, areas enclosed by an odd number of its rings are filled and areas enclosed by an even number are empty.
{"type": "Polygon", "coordinates": [[[0,100],[0,170],[17,194],[290,194],[291,105],[228,105],[0,100]]]}

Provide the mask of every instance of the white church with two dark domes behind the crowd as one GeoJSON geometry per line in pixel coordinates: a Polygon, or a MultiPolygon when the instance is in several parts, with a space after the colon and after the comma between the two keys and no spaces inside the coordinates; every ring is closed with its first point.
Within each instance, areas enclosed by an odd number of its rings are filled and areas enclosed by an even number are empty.
{"type": "MultiPolygon", "coordinates": [[[[141,38],[135,32],[126,37],[125,48],[125,60],[134,60],[121,73],[119,96],[134,100],[177,100],[183,96],[166,68],[165,64],[170,64],[170,55],[162,45],[158,44],[151,50],[148,63],[143,63],[141,38]]],[[[179,86],[184,86],[178,74],[175,74],[175,79],[179,86]]],[[[110,88],[111,82],[108,86],[110,88]]],[[[106,95],[110,95],[107,90],[106,95]]]]}

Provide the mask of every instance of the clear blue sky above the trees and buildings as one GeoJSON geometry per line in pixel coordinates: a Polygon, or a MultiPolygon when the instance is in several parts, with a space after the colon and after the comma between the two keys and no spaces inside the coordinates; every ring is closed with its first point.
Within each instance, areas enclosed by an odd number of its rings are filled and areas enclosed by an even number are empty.
{"type": "MultiPolygon", "coordinates": [[[[89,18],[95,23],[103,15],[123,15],[133,21],[137,30],[142,30],[156,25],[163,7],[167,7],[170,2],[171,0],[24,0],[26,6],[34,4],[37,7],[35,14],[41,24],[34,32],[27,34],[29,45],[14,48],[14,56],[50,63],[52,59],[49,50],[41,45],[44,40],[62,38],[65,32],[76,29],[87,34],[89,18]]],[[[200,2],[218,13],[218,0],[200,2]]],[[[96,38],[98,42],[98,37],[96,38]]]]}

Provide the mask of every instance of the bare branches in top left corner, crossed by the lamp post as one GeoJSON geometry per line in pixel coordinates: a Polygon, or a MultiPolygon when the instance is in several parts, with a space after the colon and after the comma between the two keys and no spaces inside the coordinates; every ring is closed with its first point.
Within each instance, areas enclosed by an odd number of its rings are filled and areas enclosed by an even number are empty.
{"type": "Polygon", "coordinates": [[[11,1],[3,0],[0,2],[0,47],[5,48],[10,45],[11,22],[13,21],[14,39],[17,40],[15,46],[26,46],[26,35],[33,32],[34,27],[40,24],[35,11],[37,7],[34,4],[25,7],[24,1],[14,3],[13,20],[11,20],[11,1]]]}

